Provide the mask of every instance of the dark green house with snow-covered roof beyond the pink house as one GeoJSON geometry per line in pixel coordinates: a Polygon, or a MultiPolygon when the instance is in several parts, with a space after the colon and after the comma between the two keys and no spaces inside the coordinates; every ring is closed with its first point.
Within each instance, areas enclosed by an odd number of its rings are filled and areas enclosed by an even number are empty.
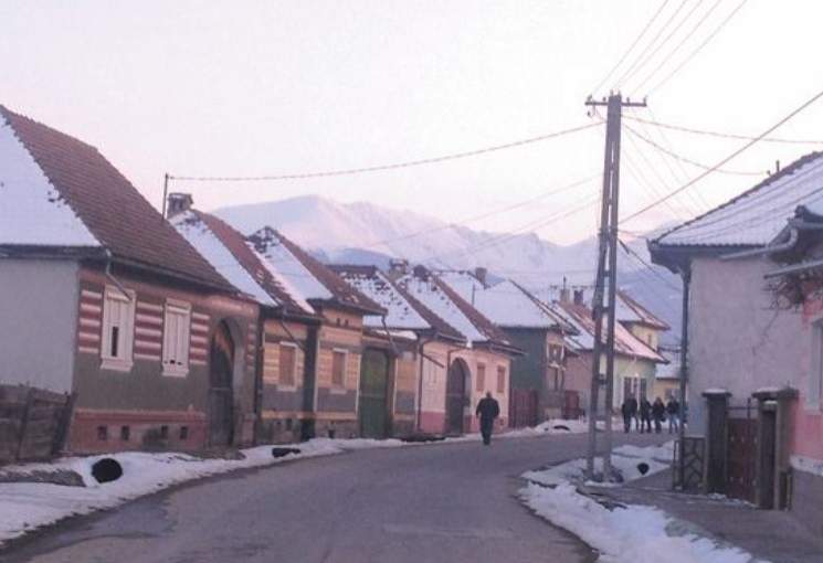
{"type": "Polygon", "coordinates": [[[535,426],[553,417],[576,417],[580,397],[566,387],[566,334],[576,329],[562,316],[517,283],[488,284],[485,269],[440,272],[439,278],[457,291],[525,354],[511,361],[511,426],[535,426]]]}

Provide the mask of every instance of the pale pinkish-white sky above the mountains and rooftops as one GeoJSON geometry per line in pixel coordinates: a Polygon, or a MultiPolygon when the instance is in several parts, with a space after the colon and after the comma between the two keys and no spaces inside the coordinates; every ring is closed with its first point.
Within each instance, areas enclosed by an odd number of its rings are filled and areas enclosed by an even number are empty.
{"type": "MultiPolygon", "coordinates": [[[[677,12],[682,3],[669,0],[622,67],[674,14],[672,25],[658,34],[663,46],[656,54],[651,47],[653,56],[626,81],[624,94],[647,94],[643,78],[693,25],[715,7],[650,85],[676,67],[740,0],[686,0],[677,12]],[[663,43],[680,20],[680,30],[663,43]]],[[[0,104],[97,146],[159,206],[167,171],[258,176],[368,167],[590,123],[583,100],[660,6],[652,0],[3,0],[0,104]]],[[[759,134],[823,87],[821,21],[821,2],[749,0],[690,63],[652,93],[652,113],[633,113],[759,134]]],[[[651,126],[625,124],[706,164],[743,142],[676,131],[663,139],[651,126]]],[[[823,139],[822,126],[823,102],[774,135],[823,139]]],[[[454,222],[600,174],[603,134],[590,129],[481,157],[361,176],[176,182],[172,189],[192,192],[207,210],[319,194],[454,222]]],[[[700,172],[663,160],[627,136],[624,131],[624,215],[652,201],[655,191],[671,191],[700,172]]],[[[778,159],[787,164],[820,147],[763,144],[727,168],[764,171],[778,159]]],[[[625,229],[688,219],[760,178],[713,174],[688,190],[690,195],[677,198],[673,209],[661,206],[625,229]]],[[[467,226],[520,230],[580,206],[598,189],[594,180],[467,226]]],[[[537,232],[571,243],[593,233],[595,217],[591,206],[537,232]]]]}

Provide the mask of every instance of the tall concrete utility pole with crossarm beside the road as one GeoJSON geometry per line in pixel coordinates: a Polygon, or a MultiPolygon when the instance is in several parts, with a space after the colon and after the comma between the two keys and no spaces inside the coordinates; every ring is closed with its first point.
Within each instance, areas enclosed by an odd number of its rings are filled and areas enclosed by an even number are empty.
{"type": "Polygon", "coordinates": [[[645,107],[644,102],[625,100],[623,96],[610,94],[602,100],[585,100],[589,107],[605,106],[605,157],[603,163],[603,194],[600,211],[600,233],[598,245],[598,275],[594,282],[592,312],[594,317],[594,343],[592,346],[591,393],[589,396],[589,452],[587,471],[594,478],[594,458],[598,453],[597,417],[599,411],[600,386],[605,384],[604,423],[605,439],[603,448],[603,480],[612,477],[612,403],[614,396],[614,305],[618,293],[618,204],[620,201],[620,134],[624,107],[645,107]],[[604,293],[608,287],[608,302],[604,293]],[[605,381],[601,381],[600,363],[603,354],[603,317],[608,322],[605,341],[605,381]]]}

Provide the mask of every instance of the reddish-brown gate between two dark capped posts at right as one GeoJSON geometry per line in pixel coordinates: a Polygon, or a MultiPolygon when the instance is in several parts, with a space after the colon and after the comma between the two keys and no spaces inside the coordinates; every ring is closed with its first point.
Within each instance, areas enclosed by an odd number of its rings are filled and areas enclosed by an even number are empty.
{"type": "Polygon", "coordinates": [[[749,502],[757,496],[758,419],[751,399],[729,406],[727,421],[727,495],[749,502]]]}

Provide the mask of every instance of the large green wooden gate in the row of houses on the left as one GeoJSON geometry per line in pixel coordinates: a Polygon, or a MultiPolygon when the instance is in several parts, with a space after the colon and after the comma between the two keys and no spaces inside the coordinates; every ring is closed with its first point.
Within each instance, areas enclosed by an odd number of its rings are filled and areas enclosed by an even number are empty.
{"type": "Polygon", "coordinates": [[[360,435],[384,438],[389,426],[389,357],[365,350],[360,362],[360,435]]]}

